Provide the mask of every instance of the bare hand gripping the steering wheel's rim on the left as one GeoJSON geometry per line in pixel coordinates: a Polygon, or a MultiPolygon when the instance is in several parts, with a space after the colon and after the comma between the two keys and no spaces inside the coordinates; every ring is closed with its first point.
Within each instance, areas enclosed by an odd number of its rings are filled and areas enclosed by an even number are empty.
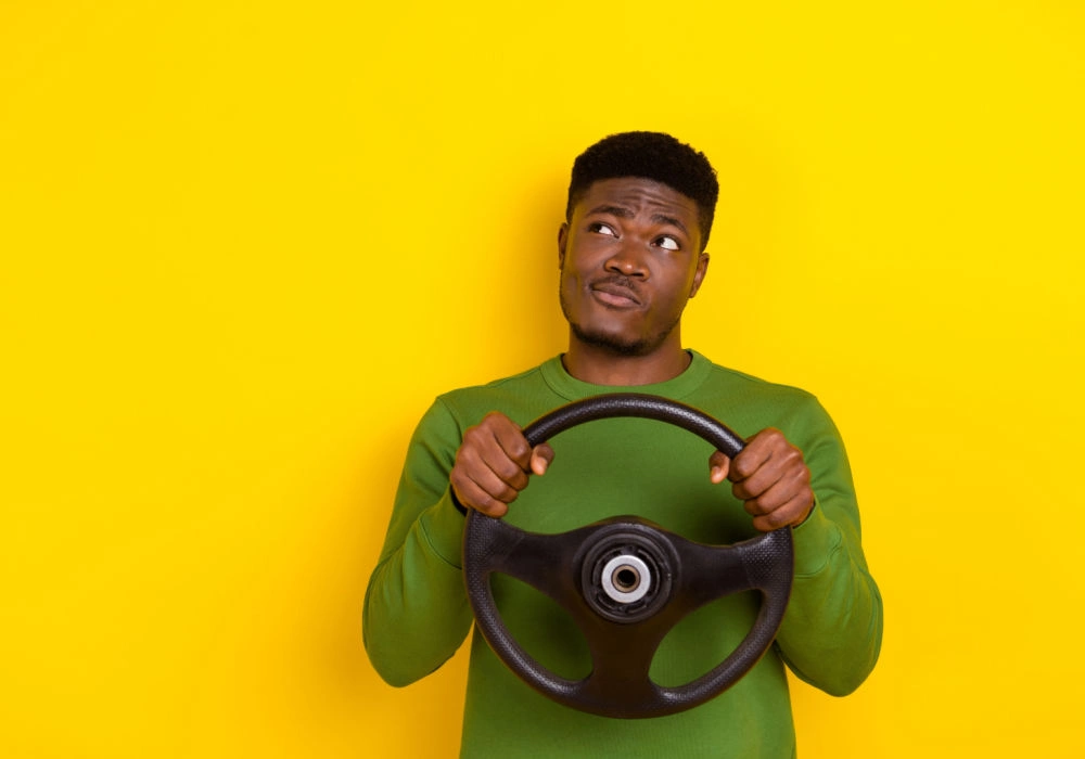
{"type": "Polygon", "coordinates": [[[528,475],[544,475],[551,461],[553,449],[548,443],[532,449],[520,427],[494,411],[463,433],[448,479],[463,506],[505,516],[527,487],[528,475]]]}

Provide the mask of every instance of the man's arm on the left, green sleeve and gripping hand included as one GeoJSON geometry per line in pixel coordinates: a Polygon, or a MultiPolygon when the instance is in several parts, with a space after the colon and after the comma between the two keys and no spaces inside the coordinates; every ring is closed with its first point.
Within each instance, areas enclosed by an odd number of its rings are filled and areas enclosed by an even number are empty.
{"type": "Polygon", "coordinates": [[[461,564],[464,507],[503,516],[528,475],[544,474],[552,460],[548,445],[533,450],[498,412],[463,430],[438,399],[422,417],[362,612],[366,651],[386,682],[425,677],[471,629],[461,564]]]}

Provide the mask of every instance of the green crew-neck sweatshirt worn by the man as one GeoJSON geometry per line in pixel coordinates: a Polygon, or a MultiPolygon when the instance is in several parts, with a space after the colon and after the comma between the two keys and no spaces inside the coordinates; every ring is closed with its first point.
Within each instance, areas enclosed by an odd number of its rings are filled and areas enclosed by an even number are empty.
{"type": "MultiPolygon", "coordinates": [[[[777,427],[803,451],[816,505],[794,530],[795,580],[776,643],[745,678],[706,704],[669,717],[617,720],[535,693],[475,633],[461,756],[793,757],[784,665],[827,693],[851,693],[878,659],[881,596],[859,542],[844,448],[821,406],[803,390],[715,365],[695,352],[686,372],[655,385],[590,385],[553,358],[523,374],[437,398],[411,439],[366,594],[370,660],[388,683],[407,685],[444,664],[471,629],[460,561],[464,517],[448,484],[463,432],[490,411],[523,426],[571,401],[621,391],[681,401],[742,437],[777,427]]],[[[516,527],[564,532],[636,514],[703,543],[755,535],[729,484],[710,481],[712,446],[686,430],[652,420],[612,419],[569,429],[550,445],[556,455],[549,471],[532,478],[505,517],[516,527]]],[[[507,576],[494,576],[493,588],[506,625],[529,654],[560,676],[588,674],[587,646],[560,607],[507,576]]],[[[715,667],[749,632],[758,604],[760,595],[749,592],[688,616],[661,645],[652,679],[681,685],[715,667]]]]}

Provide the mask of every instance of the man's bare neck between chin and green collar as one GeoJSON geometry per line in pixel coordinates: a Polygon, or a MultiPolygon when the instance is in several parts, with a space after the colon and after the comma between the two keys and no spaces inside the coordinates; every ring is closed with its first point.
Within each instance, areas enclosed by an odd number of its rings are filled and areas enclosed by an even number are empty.
{"type": "Polygon", "coordinates": [[[646,356],[624,356],[571,337],[569,352],[562,357],[565,371],[582,382],[626,387],[674,380],[686,371],[690,361],[690,355],[677,339],[673,343],[668,339],[646,356]]]}

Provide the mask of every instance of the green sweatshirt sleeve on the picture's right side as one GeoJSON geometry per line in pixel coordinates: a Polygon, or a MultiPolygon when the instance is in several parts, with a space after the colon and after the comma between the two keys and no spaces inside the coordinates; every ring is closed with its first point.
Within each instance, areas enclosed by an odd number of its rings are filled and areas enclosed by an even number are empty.
{"type": "Polygon", "coordinates": [[[795,443],[810,469],[815,506],[794,529],[795,579],[776,640],[796,677],[843,696],[878,661],[882,600],[863,554],[843,441],[821,406],[809,402],[808,435],[795,443]]]}

